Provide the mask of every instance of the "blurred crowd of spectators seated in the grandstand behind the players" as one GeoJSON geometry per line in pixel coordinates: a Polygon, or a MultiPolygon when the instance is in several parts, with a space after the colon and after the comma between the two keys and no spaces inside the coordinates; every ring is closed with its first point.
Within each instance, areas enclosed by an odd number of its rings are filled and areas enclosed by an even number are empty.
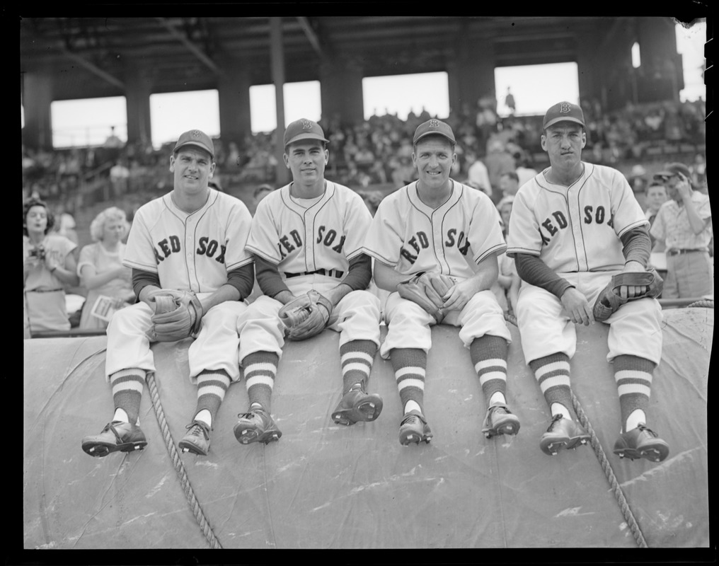
{"type": "MultiPolygon", "coordinates": [[[[584,158],[593,163],[622,168],[648,160],[667,161],[664,154],[685,147],[704,147],[704,101],[627,104],[606,112],[597,101],[582,101],[587,119],[584,158]],[[669,146],[669,150],[664,150],[669,146]]],[[[375,115],[358,124],[344,124],[338,117],[321,121],[330,140],[328,176],[353,188],[374,185],[400,186],[413,179],[411,134],[432,117],[422,110],[407,119],[396,114],[375,115]]],[[[488,168],[490,183],[497,188],[507,170],[541,169],[544,153],[539,146],[540,116],[499,117],[496,101],[480,99],[475,108],[464,105],[449,117],[440,117],[456,132],[455,178],[470,178],[470,166],[479,161],[488,168]]],[[[65,201],[71,212],[87,204],[78,198],[81,186],[104,189],[105,200],[124,193],[160,193],[171,183],[168,173],[170,147],[155,149],[149,143],[44,151],[23,147],[24,189],[48,201],[65,201]]],[[[216,140],[217,175],[220,185],[273,183],[278,165],[275,132],[247,135],[241,143],[216,140]]],[[[692,173],[698,186],[705,183],[705,160],[697,152],[692,173]]],[[[533,173],[530,173],[533,174],[533,173]]],[[[641,176],[641,175],[637,175],[641,176]]],[[[522,179],[521,179],[522,181],[522,179]]],[[[521,184],[521,183],[520,183],[521,184]]]]}

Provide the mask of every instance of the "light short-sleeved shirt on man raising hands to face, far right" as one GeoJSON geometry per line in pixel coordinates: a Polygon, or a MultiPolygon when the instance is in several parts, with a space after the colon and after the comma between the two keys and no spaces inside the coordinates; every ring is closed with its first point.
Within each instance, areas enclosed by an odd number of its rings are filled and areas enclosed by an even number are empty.
{"type": "Polygon", "coordinates": [[[661,205],[656,213],[649,233],[656,239],[664,240],[667,250],[707,250],[712,239],[712,210],[709,196],[692,191],[692,204],[702,220],[710,219],[705,228],[695,234],[687,218],[687,208],[674,199],[661,205]]]}

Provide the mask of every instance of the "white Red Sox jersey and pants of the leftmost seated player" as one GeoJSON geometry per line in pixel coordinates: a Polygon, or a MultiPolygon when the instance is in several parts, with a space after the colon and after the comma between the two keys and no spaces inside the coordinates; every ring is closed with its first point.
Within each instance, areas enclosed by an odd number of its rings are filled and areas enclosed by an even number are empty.
{"type": "MultiPolygon", "coordinates": [[[[123,264],[157,273],[162,288],[194,291],[203,298],[227,282],[228,271],[254,261],[244,249],[251,222],[247,206],[226,193],[209,189],[206,204],[191,214],[175,206],[168,193],[135,214],[123,264]]],[[[224,369],[233,380],[239,378],[237,335],[210,338],[204,331],[219,311],[232,309],[236,316],[245,308],[241,301],[225,301],[205,314],[201,333],[191,345],[192,379],[206,369],[224,369]]],[[[137,327],[149,324],[151,314],[141,302],[113,316],[110,328],[116,329],[108,332],[107,375],[124,368],[155,370],[147,340],[137,335],[137,327]]]]}

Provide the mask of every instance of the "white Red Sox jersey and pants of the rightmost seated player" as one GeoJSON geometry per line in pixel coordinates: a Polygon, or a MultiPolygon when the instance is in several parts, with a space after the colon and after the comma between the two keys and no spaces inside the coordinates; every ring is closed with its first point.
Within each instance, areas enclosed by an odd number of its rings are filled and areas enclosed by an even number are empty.
{"type": "MultiPolygon", "coordinates": [[[[569,187],[547,181],[545,170],[519,189],[510,216],[507,255],[539,256],[584,294],[591,305],[610,277],[624,267],[619,237],[649,222],[624,175],[610,167],[582,163],[584,173],[569,187]]],[[[548,291],[522,283],[517,310],[528,362],[559,351],[569,357],[574,355],[574,325],[559,316],[561,303],[557,303],[557,297],[548,291]],[[550,316],[547,309],[557,310],[556,315],[550,316]]],[[[610,316],[608,323],[613,324],[608,359],[629,354],[658,363],[658,310],[656,301],[642,299],[627,303],[610,316]],[[631,313],[641,316],[638,326],[623,320],[631,313]],[[654,337],[647,339],[648,334],[654,337]]]]}

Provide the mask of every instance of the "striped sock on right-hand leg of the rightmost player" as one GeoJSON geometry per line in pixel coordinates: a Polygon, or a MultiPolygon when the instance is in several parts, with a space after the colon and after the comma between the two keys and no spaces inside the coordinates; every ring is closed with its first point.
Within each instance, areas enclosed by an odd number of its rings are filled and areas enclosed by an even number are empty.
{"type": "Polygon", "coordinates": [[[656,364],[644,357],[620,355],[614,358],[614,379],[619,393],[622,431],[646,424],[646,409],[651,395],[651,378],[656,364]]]}

